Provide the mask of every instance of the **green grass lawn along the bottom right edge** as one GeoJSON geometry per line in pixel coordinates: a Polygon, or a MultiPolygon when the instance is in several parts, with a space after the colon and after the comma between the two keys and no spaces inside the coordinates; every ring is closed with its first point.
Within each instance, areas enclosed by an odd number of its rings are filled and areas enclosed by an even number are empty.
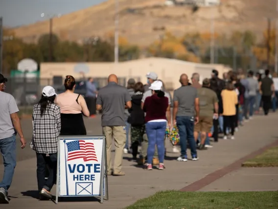
{"type": "Polygon", "coordinates": [[[126,209],[278,209],[278,191],[162,191],[126,209]]]}

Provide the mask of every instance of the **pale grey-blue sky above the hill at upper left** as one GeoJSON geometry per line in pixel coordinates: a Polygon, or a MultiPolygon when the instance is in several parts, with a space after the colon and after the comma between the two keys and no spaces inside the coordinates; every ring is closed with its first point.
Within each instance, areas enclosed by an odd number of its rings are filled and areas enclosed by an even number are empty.
{"type": "Polygon", "coordinates": [[[0,0],[0,17],[3,17],[4,26],[16,27],[43,21],[42,13],[63,15],[103,1],[105,0],[0,0]]]}

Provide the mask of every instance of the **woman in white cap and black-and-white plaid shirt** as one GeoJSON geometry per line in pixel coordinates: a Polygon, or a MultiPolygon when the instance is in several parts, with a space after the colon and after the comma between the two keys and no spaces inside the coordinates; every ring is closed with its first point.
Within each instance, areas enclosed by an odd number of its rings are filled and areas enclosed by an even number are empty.
{"type": "Polygon", "coordinates": [[[61,114],[60,107],[54,104],[55,98],[54,88],[46,86],[41,100],[33,109],[33,137],[30,147],[37,156],[37,181],[41,200],[52,198],[50,190],[56,181],[61,114]],[[45,180],[46,165],[49,169],[47,180],[45,180]]]}

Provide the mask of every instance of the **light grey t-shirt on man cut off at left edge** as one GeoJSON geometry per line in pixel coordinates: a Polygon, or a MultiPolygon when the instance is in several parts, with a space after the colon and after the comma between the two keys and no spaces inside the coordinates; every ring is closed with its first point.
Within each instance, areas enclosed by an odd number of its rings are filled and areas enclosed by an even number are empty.
{"type": "Polygon", "coordinates": [[[15,133],[10,116],[15,112],[19,112],[15,98],[0,91],[0,140],[9,138],[15,133]]]}

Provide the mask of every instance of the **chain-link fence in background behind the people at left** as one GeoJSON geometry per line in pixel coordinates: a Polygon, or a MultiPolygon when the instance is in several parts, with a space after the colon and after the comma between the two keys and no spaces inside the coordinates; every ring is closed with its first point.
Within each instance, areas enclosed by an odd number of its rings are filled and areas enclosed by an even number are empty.
{"type": "MultiPolygon", "coordinates": [[[[60,79],[61,82],[59,80],[57,82],[54,78],[12,77],[7,79],[5,92],[14,96],[21,113],[25,114],[31,113],[33,105],[41,98],[42,90],[45,86],[53,86],[57,94],[65,91],[63,79],[60,79]]],[[[140,78],[134,79],[140,81],[140,78]]],[[[86,80],[87,78],[76,79],[76,93],[85,96],[86,80]]],[[[107,85],[108,81],[107,78],[94,78],[94,83],[97,89],[100,89],[107,85]]],[[[118,84],[126,86],[127,78],[118,78],[118,84]]]]}

